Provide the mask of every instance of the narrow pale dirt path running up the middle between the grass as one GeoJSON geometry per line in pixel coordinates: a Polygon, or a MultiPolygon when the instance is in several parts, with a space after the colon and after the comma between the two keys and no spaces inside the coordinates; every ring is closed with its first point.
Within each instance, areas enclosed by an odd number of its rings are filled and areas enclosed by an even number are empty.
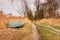
{"type": "Polygon", "coordinates": [[[37,26],[33,23],[31,23],[31,24],[32,24],[32,34],[31,34],[32,40],[40,40],[40,36],[39,36],[38,30],[37,30],[37,26]]]}

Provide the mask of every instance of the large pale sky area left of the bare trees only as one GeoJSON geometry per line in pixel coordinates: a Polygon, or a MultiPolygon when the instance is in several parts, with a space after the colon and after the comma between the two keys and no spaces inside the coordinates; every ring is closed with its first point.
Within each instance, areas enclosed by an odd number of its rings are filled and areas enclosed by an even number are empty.
{"type": "Polygon", "coordinates": [[[12,13],[13,16],[20,16],[17,11],[19,11],[18,7],[20,8],[20,15],[23,16],[23,5],[20,0],[13,0],[11,4],[11,0],[0,0],[0,10],[2,9],[5,14],[12,13]]]}

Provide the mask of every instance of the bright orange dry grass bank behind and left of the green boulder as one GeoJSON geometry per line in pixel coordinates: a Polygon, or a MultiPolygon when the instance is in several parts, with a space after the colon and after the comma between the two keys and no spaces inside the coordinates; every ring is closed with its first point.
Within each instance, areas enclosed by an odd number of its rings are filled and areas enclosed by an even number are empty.
{"type": "Polygon", "coordinates": [[[0,29],[6,29],[8,22],[16,21],[16,20],[19,20],[19,21],[23,20],[25,24],[30,22],[28,18],[24,18],[24,17],[1,17],[0,18],[0,29]]]}

